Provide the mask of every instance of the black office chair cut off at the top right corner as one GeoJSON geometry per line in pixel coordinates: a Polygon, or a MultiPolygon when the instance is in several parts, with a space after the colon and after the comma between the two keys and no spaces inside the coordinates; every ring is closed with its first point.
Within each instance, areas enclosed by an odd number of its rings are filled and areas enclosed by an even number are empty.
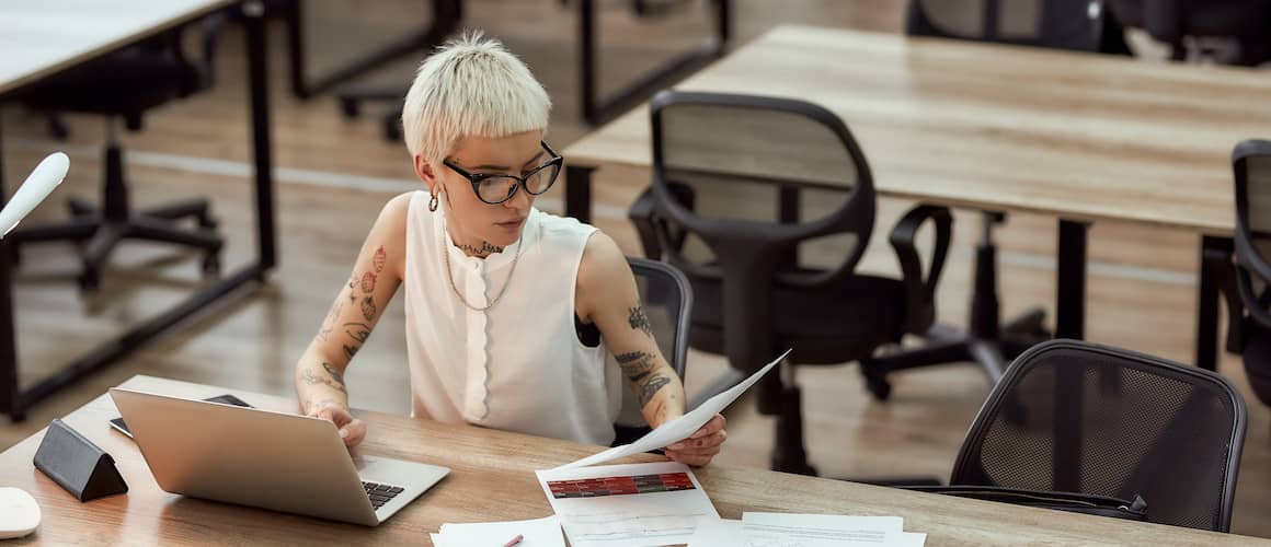
{"type": "Polygon", "coordinates": [[[1187,39],[1225,38],[1237,51],[1221,61],[1254,66],[1271,60],[1271,0],[1108,0],[1112,18],[1169,44],[1187,58],[1187,39]]]}

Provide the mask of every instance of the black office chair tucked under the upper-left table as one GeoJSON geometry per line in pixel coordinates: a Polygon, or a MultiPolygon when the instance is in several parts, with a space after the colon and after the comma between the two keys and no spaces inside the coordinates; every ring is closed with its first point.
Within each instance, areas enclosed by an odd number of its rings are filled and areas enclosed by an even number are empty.
{"type": "Polygon", "coordinates": [[[202,58],[186,57],[182,29],[175,29],[136,47],[50,77],[22,96],[29,108],[56,113],[79,112],[107,117],[105,173],[102,203],[71,198],[72,218],[65,222],[24,225],[9,235],[15,245],[37,241],[75,241],[83,247],[80,287],[95,289],[111,250],[125,239],[150,240],[201,249],[203,272],[220,270],[224,240],[216,231],[206,199],[187,199],[133,212],[123,173],[123,150],[116,140],[116,119],[128,129],[141,128],[141,114],[169,100],[212,85],[212,56],[222,15],[203,19],[202,58]],[[194,227],[178,222],[193,218],[194,227]]]}

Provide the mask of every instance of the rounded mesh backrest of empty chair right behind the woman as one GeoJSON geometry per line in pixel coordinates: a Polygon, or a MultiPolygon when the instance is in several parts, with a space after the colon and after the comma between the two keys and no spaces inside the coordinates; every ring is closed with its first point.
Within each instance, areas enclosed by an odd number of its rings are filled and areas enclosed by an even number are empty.
{"type": "Polygon", "coordinates": [[[864,154],[834,113],[769,96],[662,91],[652,137],[666,258],[722,282],[724,353],[758,367],[774,353],[773,283],[815,288],[855,269],[874,220],[864,154]]]}

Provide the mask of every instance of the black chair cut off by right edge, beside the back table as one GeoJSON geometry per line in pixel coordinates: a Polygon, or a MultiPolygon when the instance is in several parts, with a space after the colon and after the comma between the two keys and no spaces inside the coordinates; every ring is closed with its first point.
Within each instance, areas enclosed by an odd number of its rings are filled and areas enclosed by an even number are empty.
{"type": "MultiPolygon", "coordinates": [[[[1235,287],[1228,349],[1244,357],[1253,393],[1271,405],[1271,141],[1244,141],[1232,152],[1235,175],[1235,287]]],[[[1229,260],[1229,259],[1228,259],[1229,260]]],[[[1224,291],[1230,296],[1232,291],[1224,291]]]]}

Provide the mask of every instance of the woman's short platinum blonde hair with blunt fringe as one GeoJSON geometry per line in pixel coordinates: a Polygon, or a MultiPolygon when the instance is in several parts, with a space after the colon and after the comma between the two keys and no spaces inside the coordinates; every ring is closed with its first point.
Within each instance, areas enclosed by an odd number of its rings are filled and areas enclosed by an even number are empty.
{"type": "Polygon", "coordinates": [[[464,137],[547,131],[552,99],[502,43],[464,32],[419,65],[402,108],[411,155],[441,165],[464,137]]]}

